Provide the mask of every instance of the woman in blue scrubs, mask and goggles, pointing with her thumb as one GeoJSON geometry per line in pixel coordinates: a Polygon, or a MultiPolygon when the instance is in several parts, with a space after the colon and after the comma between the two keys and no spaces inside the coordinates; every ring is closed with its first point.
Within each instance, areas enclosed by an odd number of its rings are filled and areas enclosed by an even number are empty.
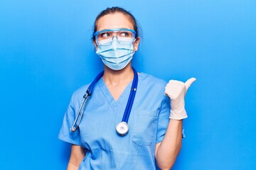
{"type": "Polygon", "coordinates": [[[166,85],[137,74],[131,66],[140,40],[137,22],[123,8],[107,8],[97,16],[92,40],[105,64],[104,74],[94,81],[79,128],[73,123],[90,84],[74,92],[65,113],[59,138],[72,144],[68,169],[156,169],[156,164],[171,169],[187,117],[184,96],[195,79],[166,85]],[[130,96],[135,97],[130,101],[130,96]]]}

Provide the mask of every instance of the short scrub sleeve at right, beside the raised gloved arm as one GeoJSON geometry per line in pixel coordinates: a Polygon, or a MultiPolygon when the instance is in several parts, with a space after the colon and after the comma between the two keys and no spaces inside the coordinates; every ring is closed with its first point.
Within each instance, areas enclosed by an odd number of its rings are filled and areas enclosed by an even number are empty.
{"type": "Polygon", "coordinates": [[[156,143],[159,143],[164,139],[164,135],[169,124],[170,109],[170,98],[163,95],[163,100],[161,102],[161,108],[159,111],[156,143]]]}

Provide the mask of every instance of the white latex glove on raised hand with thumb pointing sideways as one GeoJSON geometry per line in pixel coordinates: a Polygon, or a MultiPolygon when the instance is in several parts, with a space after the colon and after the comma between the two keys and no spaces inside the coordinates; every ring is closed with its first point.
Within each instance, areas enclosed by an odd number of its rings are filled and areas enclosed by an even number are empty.
{"type": "Polygon", "coordinates": [[[166,84],[165,94],[171,98],[171,113],[170,117],[174,120],[188,118],[185,110],[185,95],[188,88],[191,86],[195,78],[188,79],[186,83],[177,80],[170,80],[166,84]]]}

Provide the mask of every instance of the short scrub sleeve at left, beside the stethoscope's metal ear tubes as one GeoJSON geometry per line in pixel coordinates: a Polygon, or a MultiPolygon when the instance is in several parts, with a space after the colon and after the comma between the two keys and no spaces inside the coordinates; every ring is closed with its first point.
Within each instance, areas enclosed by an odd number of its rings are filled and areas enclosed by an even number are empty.
{"type": "Polygon", "coordinates": [[[71,132],[70,128],[72,127],[75,120],[75,93],[70,99],[70,103],[68,105],[68,109],[65,112],[63,118],[63,125],[60,128],[60,133],[58,138],[65,142],[69,142],[74,145],[80,145],[80,132],[79,128],[75,132],[71,132]]]}

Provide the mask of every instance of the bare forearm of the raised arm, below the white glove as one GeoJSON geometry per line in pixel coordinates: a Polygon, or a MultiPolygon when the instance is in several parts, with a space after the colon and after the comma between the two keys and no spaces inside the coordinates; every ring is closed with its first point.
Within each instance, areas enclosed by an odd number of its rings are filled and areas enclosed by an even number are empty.
{"type": "Polygon", "coordinates": [[[164,140],[156,148],[156,163],[161,169],[171,169],[181,150],[182,121],[170,119],[164,140]]]}

